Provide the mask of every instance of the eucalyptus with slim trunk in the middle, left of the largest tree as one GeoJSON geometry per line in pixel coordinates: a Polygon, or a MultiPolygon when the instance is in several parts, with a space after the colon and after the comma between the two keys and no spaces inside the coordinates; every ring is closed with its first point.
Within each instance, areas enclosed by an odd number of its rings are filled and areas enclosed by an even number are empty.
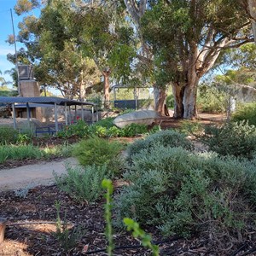
{"type": "Polygon", "coordinates": [[[132,61],[136,55],[133,29],[119,1],[70,1],[73,13],[66,26],[77,38],[79,49],[102,73],[105,107],[109,102],[110,79],[135,83],[132,61]]]}

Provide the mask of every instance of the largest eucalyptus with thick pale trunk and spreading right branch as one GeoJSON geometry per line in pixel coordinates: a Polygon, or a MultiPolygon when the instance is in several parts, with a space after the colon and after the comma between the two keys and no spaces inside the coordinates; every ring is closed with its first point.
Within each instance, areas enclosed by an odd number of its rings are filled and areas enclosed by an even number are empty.
{"type": "Polygon", "coordinates": [[[148,1],[141,27],[157,79],[172,83],[175,118],[197,116],[197,86],[221,52],[253,41],[250,20],[233,0],[148,1]]]}

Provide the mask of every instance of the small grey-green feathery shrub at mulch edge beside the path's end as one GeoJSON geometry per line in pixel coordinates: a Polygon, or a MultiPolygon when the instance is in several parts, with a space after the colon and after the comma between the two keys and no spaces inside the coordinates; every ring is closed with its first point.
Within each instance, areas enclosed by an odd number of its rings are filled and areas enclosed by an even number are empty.
{"type": "Polygon", "coordinates": [[[102,180],[108,177],[107,166],[66,166],[67,174],[58,176],[54,172],[59,189],[67,192],[74,200],[92,203],[102,196],[102,180]]]}

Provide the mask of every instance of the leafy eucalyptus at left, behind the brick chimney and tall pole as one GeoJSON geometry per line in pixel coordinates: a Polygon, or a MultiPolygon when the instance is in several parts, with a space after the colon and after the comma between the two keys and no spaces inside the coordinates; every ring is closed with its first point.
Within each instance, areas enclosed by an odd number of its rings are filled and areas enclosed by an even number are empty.
{"type": "MultiPolygon", "coordinates": [[[[32,64],[40,84],[56,87],[65,97],[84,100],[86,87],[99,83],[100,73],[67,33],[63,19],[67,10],[60,2],[45,1],[39,17],[26,15],[20,22],[17,39],[25,48],[18,51],[18,62],[32,64]]],[[[15,11],[30,14],[35,8],[38,1],[18,0],[15,11]]],[[[14,62],[15,56],[9,55],[9,60],[14,62]]]]}

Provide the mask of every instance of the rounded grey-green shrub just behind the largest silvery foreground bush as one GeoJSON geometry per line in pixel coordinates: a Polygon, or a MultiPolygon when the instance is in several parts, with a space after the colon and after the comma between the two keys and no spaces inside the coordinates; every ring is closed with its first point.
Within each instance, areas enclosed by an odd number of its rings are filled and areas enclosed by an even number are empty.
{"type": "Polygon", "coordinates": [[[133,154],[139,153],[142,149],[149,150],[158,143],[166,147],[182,147],[187,150],[192,150],[193,145],[186,139],[183,133],[174,130],[158,131],[146,137],[144,140],[137,140],[127,148],[128,159],[131,159],[133,154]]]}

